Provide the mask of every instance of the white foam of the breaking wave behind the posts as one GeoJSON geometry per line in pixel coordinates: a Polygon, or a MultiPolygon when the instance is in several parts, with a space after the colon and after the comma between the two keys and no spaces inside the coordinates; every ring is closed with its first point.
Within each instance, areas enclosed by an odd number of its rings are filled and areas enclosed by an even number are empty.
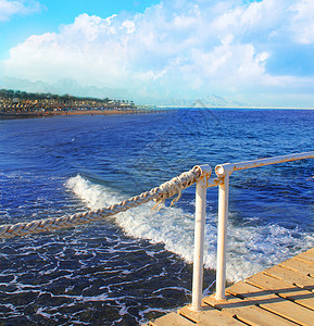
{"type": "MultiPolygon", "coordinates": [[[[101,209],[126,199],[79,175],[70,178],[66,186],[90,209],[101,209]]],[[[151,210],[152,206],[153,203],[147,203],[120,213],[115,221],[128,236],[164,243],[166,250],[178,254],[188,263],[192,262],[193,214],[180,208],[168,206],[155,212],[151,210]]],[[[210,213],[206,216],[204,260],[205,266],[213,269],[216,265],[216,216],[210,213]]],[[[314,237],[298,228],[287,229],[276,224],[235,226],[230,215],[227,278],[230,281],[243,279],[313,246],[314,237]]]]}

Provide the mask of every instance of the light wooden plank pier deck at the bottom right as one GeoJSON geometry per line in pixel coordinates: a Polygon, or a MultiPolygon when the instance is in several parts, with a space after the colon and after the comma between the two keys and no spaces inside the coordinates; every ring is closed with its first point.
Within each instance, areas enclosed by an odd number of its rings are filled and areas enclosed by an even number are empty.
{"type": "Polygon", "coordinates": [[[149,322],[150,326],[314,325],[314,248],[226,289],[227,300],[203,298],[149,322]]]}

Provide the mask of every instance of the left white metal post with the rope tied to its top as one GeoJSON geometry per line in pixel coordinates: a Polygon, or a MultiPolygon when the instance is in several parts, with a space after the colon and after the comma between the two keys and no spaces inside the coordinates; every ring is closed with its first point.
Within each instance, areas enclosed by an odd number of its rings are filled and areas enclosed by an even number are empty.
{"type": "Polygon", "coordinates": [[[202,306],[203,294],[203,255],[206,217],[206,186],[211,177],[212,168],[201,165],[202,177],[197,183],[196,192],[196,228],[194,228],[194,259],[193,259],[193,286],[192,286],[192,311],[199,311],[202,306]]]}

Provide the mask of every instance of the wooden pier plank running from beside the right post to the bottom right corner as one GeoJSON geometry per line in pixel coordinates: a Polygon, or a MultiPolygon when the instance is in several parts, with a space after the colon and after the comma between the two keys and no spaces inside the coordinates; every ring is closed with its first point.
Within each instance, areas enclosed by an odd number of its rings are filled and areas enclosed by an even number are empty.
{"type": "Polygon", "coordinates": [[[227,292],[240,298],[247,298],[254,304],[259,304],[261,308],[294,323],[313,326],[314,312],[312,310],[292,301],[287,301],[269,291],[239,281],[227,288],[227,292]]]}

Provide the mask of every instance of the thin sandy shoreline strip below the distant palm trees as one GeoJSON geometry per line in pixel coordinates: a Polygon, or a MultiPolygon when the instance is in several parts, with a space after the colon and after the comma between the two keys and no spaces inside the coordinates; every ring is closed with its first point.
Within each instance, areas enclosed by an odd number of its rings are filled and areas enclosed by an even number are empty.
{"type": "Polygon", "coordinates": [[[72,110],[72,111],[41,111],[41,112],[1,112],[4,118],[23,118],[23,117],[50,117],[58,115],[121,115],[121,114],[148,114],[165,110],[72,110]]]}

